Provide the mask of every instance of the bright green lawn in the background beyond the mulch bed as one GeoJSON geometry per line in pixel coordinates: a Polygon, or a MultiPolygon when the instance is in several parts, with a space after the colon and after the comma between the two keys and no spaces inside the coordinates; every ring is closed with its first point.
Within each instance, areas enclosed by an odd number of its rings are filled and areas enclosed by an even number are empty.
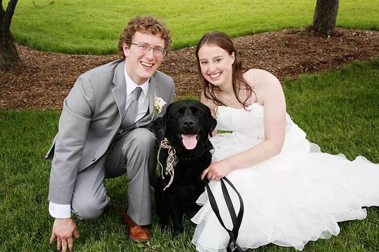
{"type": "MultiPolygon", "coordinates": [[[[316,0],[20,0],[11,31],[25,46],[70,54],[114,54],[122,29],[135,16],[152,15],[172,30],[173,47],[195,46],[208,31],[231,37],[304,27],[316,0]]],[[[375,1],[374,1],[375,2],[375,1]]],[[[7,1],[4,1],[5,6],[7,1]]],[[[342,0],[337,27],[379,29],[379,4],[342,0]]]]}

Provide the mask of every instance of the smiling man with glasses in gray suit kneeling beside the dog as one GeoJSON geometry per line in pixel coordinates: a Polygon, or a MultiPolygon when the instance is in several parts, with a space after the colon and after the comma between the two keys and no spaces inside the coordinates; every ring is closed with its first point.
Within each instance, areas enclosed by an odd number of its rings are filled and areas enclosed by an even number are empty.
{"type": "Polygon", "coordinates": [[[171,47],[167,27],[136,17],[120,35],[121,60],[81,75],[63,105],[59,130],[46,158],[52,162],[50,243],[72,250],[78,237],[71,213],[97,218],[109,202],[105,178],[127,174],[129,236],[147,240],[152,223],[150,182],[155,177],[157,122],[173,100],[172,78],[157,71],[171,47]],[[167,104],[165,104],[167,103],[167,104]]]}

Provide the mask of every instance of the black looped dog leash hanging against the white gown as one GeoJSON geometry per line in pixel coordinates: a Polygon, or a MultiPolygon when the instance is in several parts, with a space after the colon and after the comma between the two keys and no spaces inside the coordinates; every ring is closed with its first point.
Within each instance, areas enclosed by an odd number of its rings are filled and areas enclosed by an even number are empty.
{"type": "Polygon", "coordinates": [[[208,193],[209,203],[210,203],[210,205],[211,205],[211,207],[213,209],[213,212],[216,214],[216,217],[217,217],[217,219],[219,219],[220,224],[224,227],[224,229],[228,232],[228,234],[230,236],[229,243],[228,243],[226,251],[227,252],[233,252],[233,251],[243,252],[243,250],[241,249],[241,247],[239,245],[237,245],[237,242],[236,242],[237,241],[238,232],[240,230],[240,226],[241,226],[241,222],[242,222],[242,217],[243,217],[243,201],[242,201],[242,197],[241,197],[240,193],[234,187],[234,185],[232,184],[232,182],[229,181],[229,179],[227,179],[226,177],[223,177],[223,178],[220,179],[221,189],[223,190],[223,194],[224,194],[224,200],[225,200],[225,203],[226,203],[227,208],[229,210],[229,214],[230,214],[230,217],[231,217],[232,223],[233,223],[233,229],[229,230],[229,229],[226,228],[226,226],[224,224],[224,221],[221,218],[220,211],[219,211],[219,208],[218,208],[217,203],[216,203],[216,199],[214,198],[214,195],[213,195],[212,191],[209,188],[209,185],[208,185],[209,181],[208,181],[208,179],[205,178],[205,181],[206,181],[206,187],[207,187],[207,193],[208,193]],[[236,191],[236,193],[238,195],[238,198],[240,199],[240,211],[238,212],[238,215],[236,215],[236,211],[234,210],[232,201],[230,199],[229,192],[226,189],[224,181],[226,181],[226,183],[228,183],[230,185],[230,187],[233,190],[236,191]]]}

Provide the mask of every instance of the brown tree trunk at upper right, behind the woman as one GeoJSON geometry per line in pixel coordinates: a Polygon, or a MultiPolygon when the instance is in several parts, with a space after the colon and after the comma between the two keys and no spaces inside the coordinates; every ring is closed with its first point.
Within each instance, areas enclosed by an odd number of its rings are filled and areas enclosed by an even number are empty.
{"type": "Polygon", "coordinates": [[[333,35],[336,26],[339,0],[317,0],[312,29],[325,35],[333,35]]]}

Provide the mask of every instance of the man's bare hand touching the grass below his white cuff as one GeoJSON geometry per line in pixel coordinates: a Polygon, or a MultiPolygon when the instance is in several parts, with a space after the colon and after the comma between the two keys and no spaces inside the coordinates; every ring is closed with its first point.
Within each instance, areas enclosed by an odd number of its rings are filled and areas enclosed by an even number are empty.
{"type": "Polygon", "coordinates": [[[50,244],[54,242],[54,239],[56,237],[57,250],[62,249],[62,252],[67,252],[67,247],[69,247],[69,251],[72,251],[72,247],[74,246],[72,236],[79,238],[75,221],[72,220],[72,218],[56,218],[54,221],[54,225],[52,226],[52,236],[50,237],[50,244]]]}

